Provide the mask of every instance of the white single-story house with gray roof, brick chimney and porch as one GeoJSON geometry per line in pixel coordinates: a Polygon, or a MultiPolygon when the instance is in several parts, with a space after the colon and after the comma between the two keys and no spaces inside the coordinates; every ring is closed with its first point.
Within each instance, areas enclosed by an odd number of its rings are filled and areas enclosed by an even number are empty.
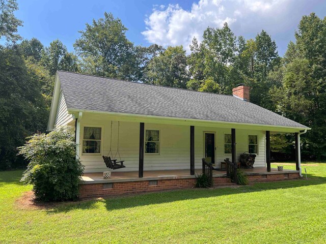
{"type": "MultiPolygon", "coordinates": [[[[298,177],[300,134],[310,128],[250,103],[249,93],[244,85],[229,96],[58,71],[48,130],[75,128],[82,196],[189,187],[202,159],[221,169],[244,152],[256,155],[250,179],[298,177]],[[296,171],[270,168],[271,133],[296,134],[296,171]],[[120,156],[125,167],[108,170],[102,156],[120,156]]],[[[214,182],[228,182],[218,179],[224,174],[214,171],[214,182]]]]}

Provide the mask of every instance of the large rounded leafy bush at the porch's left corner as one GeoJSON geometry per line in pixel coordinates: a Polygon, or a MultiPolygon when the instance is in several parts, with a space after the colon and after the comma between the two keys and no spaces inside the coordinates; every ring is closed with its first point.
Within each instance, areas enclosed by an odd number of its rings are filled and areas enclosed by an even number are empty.
{"type": "Polygon", "coordinates": [[[21,181],[33,185],[38,200],[63,201],[78,198],[78,182],[84,166],[75,159],[74,133],[60,127],[48,134],[35,134],[19,147],[28,161],[21,181]]]}

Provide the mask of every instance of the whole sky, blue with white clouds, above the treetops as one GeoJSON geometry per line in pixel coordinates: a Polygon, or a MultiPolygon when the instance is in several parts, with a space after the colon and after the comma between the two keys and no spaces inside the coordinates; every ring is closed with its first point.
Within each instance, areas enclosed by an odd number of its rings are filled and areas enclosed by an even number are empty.
{"type": "Polygon", "coordinates": [[[294,40],[294,31],[303,15],[315,12],[326,16],[322,0],[197,0],[197,1],[100,1],[100,0],[18,0],[17,18],[24,21],[19,34],[38,38],[44,45],[60,39],[70,51],[79,30],[104,11],[119,17],[135,44],[183,45],[194,36],[201,40],[207,26],[228,22],[235,35],[254,38],[265,29],[276,41],[279,54],[294,40]]]}

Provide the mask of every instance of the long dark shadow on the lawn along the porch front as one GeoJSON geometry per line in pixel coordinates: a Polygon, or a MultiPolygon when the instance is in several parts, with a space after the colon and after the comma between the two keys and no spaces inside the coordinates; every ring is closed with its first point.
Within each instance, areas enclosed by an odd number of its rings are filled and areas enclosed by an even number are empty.
{"type": "Polygon", "coordinates": [[[104,202],[108,211],[140,207],[152,204],[169,203],[183,200],[193,200],[198,198],[219,197],[232,194],[246,194],[251,192],[277,190],[277,189],[291,189],[297,187],[314,186],[326,184],[326,177],[314,176],[309,174],[308,180],[284,180],[271,182],[256,182],[250,186],[243,187],[225,187],[215,189],[187,189],[187,190],[173,190],[165,192],[133,194],[106,198],[97,198],[84,201],[78,201],[71,204],[58,205],[47,211],[48,214],[56,214],[58,212],[69,212],[75,209],[92,209],[97,208],[96,203],[104,202]]]}

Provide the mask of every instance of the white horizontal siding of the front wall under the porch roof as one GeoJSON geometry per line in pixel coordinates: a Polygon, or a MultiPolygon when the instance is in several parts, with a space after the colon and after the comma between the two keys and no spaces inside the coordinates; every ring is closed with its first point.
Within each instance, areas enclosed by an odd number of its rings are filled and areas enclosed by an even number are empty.
{"type": "MultiPolygon", "coordinates": [[[[106,117],[107,118],[107,117],[106,117]]],[[[102,155],[110,150],[111,120],[84,113],[80,120],[80,144],[83,143],[84,126],[102,128],[101,155],[80,155],[85,166],[85,172],[101,172],[107,170],[102,155]]],[[[137,171],[139,163],[139,123],[120,121],[119,152],[126,168],[117,171],[137,171]]],[[[190,128],[189,126],[161,125],[145,123],[146,129],[160,130],[159,155],[144,156],[144,170],[189,169],[190,155],[190,128]]],[[[218,167],[225,158],[231,155],[224,154],[224,134],[231,134],[231,129],[195,127],[195,168],[201,168],[201,159],[204,157],[204,132],[215,132],[215,163],[218,167]]],[[[118,121],[113,121],[112,132],[113,156],[117,151],[118,121]]],[[[258,135],[258,154],[255,167],[265,166],[265,132],[255,130],[236,130],[237,158],[244,151],[248,151],[248,135],[258,135]]],[[[82,148],[80,145],[80,152],[82,148]]],[[[118,156],[117,156],[118,157],[118,156]]]]}

